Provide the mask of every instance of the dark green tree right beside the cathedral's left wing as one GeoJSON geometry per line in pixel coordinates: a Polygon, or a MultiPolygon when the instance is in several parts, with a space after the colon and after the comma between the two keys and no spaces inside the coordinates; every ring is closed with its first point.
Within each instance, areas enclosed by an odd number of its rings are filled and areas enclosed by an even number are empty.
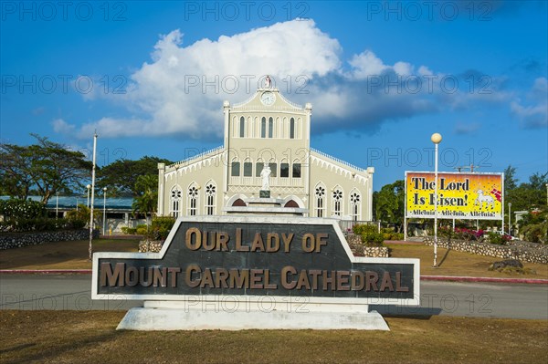
{"type": "MultiPolygon", "coordinates": [[[[119,160],[104,166],[98,174],[97,185],[107,187],[111,196],[137,197],[142,191],[136,188],[140,176],[158,175],[158,163],[171,164],[171,161],[144,156],[138,161],[119,160]]],[[[156,185],[157,188],[157,185],[156,185]]]]}

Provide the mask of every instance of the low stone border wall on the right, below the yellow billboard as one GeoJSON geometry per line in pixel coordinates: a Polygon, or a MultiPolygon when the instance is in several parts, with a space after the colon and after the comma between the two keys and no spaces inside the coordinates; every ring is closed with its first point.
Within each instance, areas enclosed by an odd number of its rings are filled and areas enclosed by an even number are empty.
{"type": "MultiPolygon", "coordinates": [[[[428,236],[424,242],[431,246],[434,244],[434,238],[428,236]]],[[[511,242],[508,245],[497,245],[466,240],[448,240],[438,237],[437,246],[475,255],[487,255],[501,259],[519,259],[529,263],[548,264],[548,245],[545,244],[511,242]]]]}

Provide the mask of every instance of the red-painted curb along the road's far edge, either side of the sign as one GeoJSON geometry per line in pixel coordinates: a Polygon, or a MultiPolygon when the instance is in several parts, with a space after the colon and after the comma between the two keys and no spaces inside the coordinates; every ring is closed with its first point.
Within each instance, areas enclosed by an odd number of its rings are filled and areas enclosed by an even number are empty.
{"type": "MultiPolygon", "coordinates": [[[[4,275],[90,275],[91,269],[0,269],[4,275]]],[[[528,285],[548,285],[548,279],[532,278],[495,278],[488,276],[420,276],[421,281],[439,282],[480,282],[480,283],[515,283],[528,285]]]]}

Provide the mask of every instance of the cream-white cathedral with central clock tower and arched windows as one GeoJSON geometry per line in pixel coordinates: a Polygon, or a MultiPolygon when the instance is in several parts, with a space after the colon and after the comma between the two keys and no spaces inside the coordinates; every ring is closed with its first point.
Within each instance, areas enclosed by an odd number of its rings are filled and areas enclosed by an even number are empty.
{"type": "Polygon", "coordinates": [[[311,217],[373,220],[374,168],[311,149],[311,104],[285,99],[268,80],[247,101],[224,102],[223,146],[158,164],[158,216],[219,215],[246,206],[259,197],[261,172],[269,167],[270,197],[282,206],[311,217]]]}

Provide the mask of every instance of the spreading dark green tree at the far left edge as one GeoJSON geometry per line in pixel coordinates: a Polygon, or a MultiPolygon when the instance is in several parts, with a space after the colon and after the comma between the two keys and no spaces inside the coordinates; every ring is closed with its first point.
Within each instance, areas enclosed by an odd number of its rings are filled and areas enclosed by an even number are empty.
{"type": "Polygon", "coordinates": [[[3,192],[26,200],[31,188],[36,188],[47,203],[56,192],[69,194],[81,190],[81,181],[89,177],[91,162],[80,151],[31,134],[37,143],[18,146],[0,144],[0,184],[3,192]]]}

